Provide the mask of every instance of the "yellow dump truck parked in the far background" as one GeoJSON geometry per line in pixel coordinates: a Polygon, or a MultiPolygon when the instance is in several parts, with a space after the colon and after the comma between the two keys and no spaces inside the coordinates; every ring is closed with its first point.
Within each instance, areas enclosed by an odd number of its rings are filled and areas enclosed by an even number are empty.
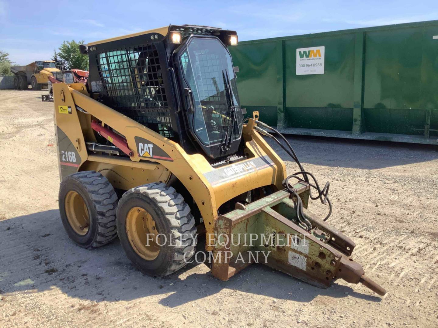
{"type": "Polygon", "coordinates": [[[49,76],[54,76],[60,70],[55,67],[53,60],[37,60],[26,66],[12,66],[11,71],[15,75],[15,89],[26,90],[30,84],[33,90],[41,90],[47,88],[49,76]]]}

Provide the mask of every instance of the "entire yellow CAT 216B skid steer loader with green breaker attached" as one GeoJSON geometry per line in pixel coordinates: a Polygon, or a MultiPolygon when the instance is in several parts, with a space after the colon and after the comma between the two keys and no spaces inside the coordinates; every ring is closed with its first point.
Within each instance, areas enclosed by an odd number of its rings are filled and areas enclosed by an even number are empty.
{"type": "Polygon", "coordinates": [[[236,44],[235,31],[170,25],[81,45],[87,83],[53,84],[69,237],[93,248],[118,235],[141,272],[165,276],[203,262],[195,246],[205,235],[218,279],[258,262],[318,287],[344,279],[384,295],[350,257],[353,241],[307,210],[310,198],[331,213],[329,185],[257,112],[244,119],[227,50],[236,44]],[[286,176],[264,138],[297,173],[286,176]]]}

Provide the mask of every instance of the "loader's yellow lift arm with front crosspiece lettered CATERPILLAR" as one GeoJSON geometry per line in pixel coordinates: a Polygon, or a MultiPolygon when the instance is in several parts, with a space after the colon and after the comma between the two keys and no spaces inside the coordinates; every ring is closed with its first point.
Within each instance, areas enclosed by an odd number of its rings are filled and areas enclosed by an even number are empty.
{"type": "MultiPolygon", "coordinates": [[[[282,188],[282,181],[286,178],[284,162],[254,130],[244,129],[246,149],[250,154],[248,160],[213,168],[201,154],[186,154],[179,144],[90,98],[84,84],[72,84],[71,87],[64,83],[53,84],[53,94],[63,95],[54,96],[56,125],[72,141],[79,155],[74,163],[60,158],[60,171],[65,167],[71,173],[85,171],[96,168],[96,162],[100,163],[99,170],[103,175],[110,175],[114,167],[119,171],[126,170],[124,167],[132,167],[131,171],[142,170],[142,174],[134,174],[135,177],[130,180],[118,179],[115,182],[115,186],[125,190],[145,183],[166,182],[172,173],[184,184],[198,205],[207,233],[213,234],[218,218],[217,209],[223,203],[258,187],[275,185],[282,188]],[[89,114],[79,112],[76,106],[86,108],[89,114]],[[92,116],[126,137],[133,153],[130,160],[88,155],[83,127],[91,126],[92,116]],[[169,154],[169,158],[140,156],[136,137],[148,140],[154,147],[169,154]]],[[[109,181],[113,180],[109,177],[109,181]]]]}

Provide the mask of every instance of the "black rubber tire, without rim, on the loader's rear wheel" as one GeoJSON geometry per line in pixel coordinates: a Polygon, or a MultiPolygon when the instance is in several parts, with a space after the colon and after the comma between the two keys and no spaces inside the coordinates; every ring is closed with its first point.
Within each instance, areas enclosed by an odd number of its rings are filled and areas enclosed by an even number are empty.
{"type": "Polygon", "coordinates": [[[108,179],[95,171],[82,171],[68,175],[60,185],[59,210],[68,236],[83,248],[95,248],[108,244],[117,237],[117,195],[108,179]],[[88,232],[80,235],[74,231],[65,212],[65,198],[75,191],[84,199],[90,224],[88,232]]]}

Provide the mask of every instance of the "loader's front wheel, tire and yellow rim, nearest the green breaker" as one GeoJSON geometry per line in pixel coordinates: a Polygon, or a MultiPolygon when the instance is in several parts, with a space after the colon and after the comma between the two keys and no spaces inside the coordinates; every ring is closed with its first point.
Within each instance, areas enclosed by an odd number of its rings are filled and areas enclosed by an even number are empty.
{"type": "Polygon", "coordinates": [[[117,232],[127,257],[151,276],[167,276],[182,268],[198,241],[190,207],[165,183],[124,193],[117,206],[117,232]]]}

